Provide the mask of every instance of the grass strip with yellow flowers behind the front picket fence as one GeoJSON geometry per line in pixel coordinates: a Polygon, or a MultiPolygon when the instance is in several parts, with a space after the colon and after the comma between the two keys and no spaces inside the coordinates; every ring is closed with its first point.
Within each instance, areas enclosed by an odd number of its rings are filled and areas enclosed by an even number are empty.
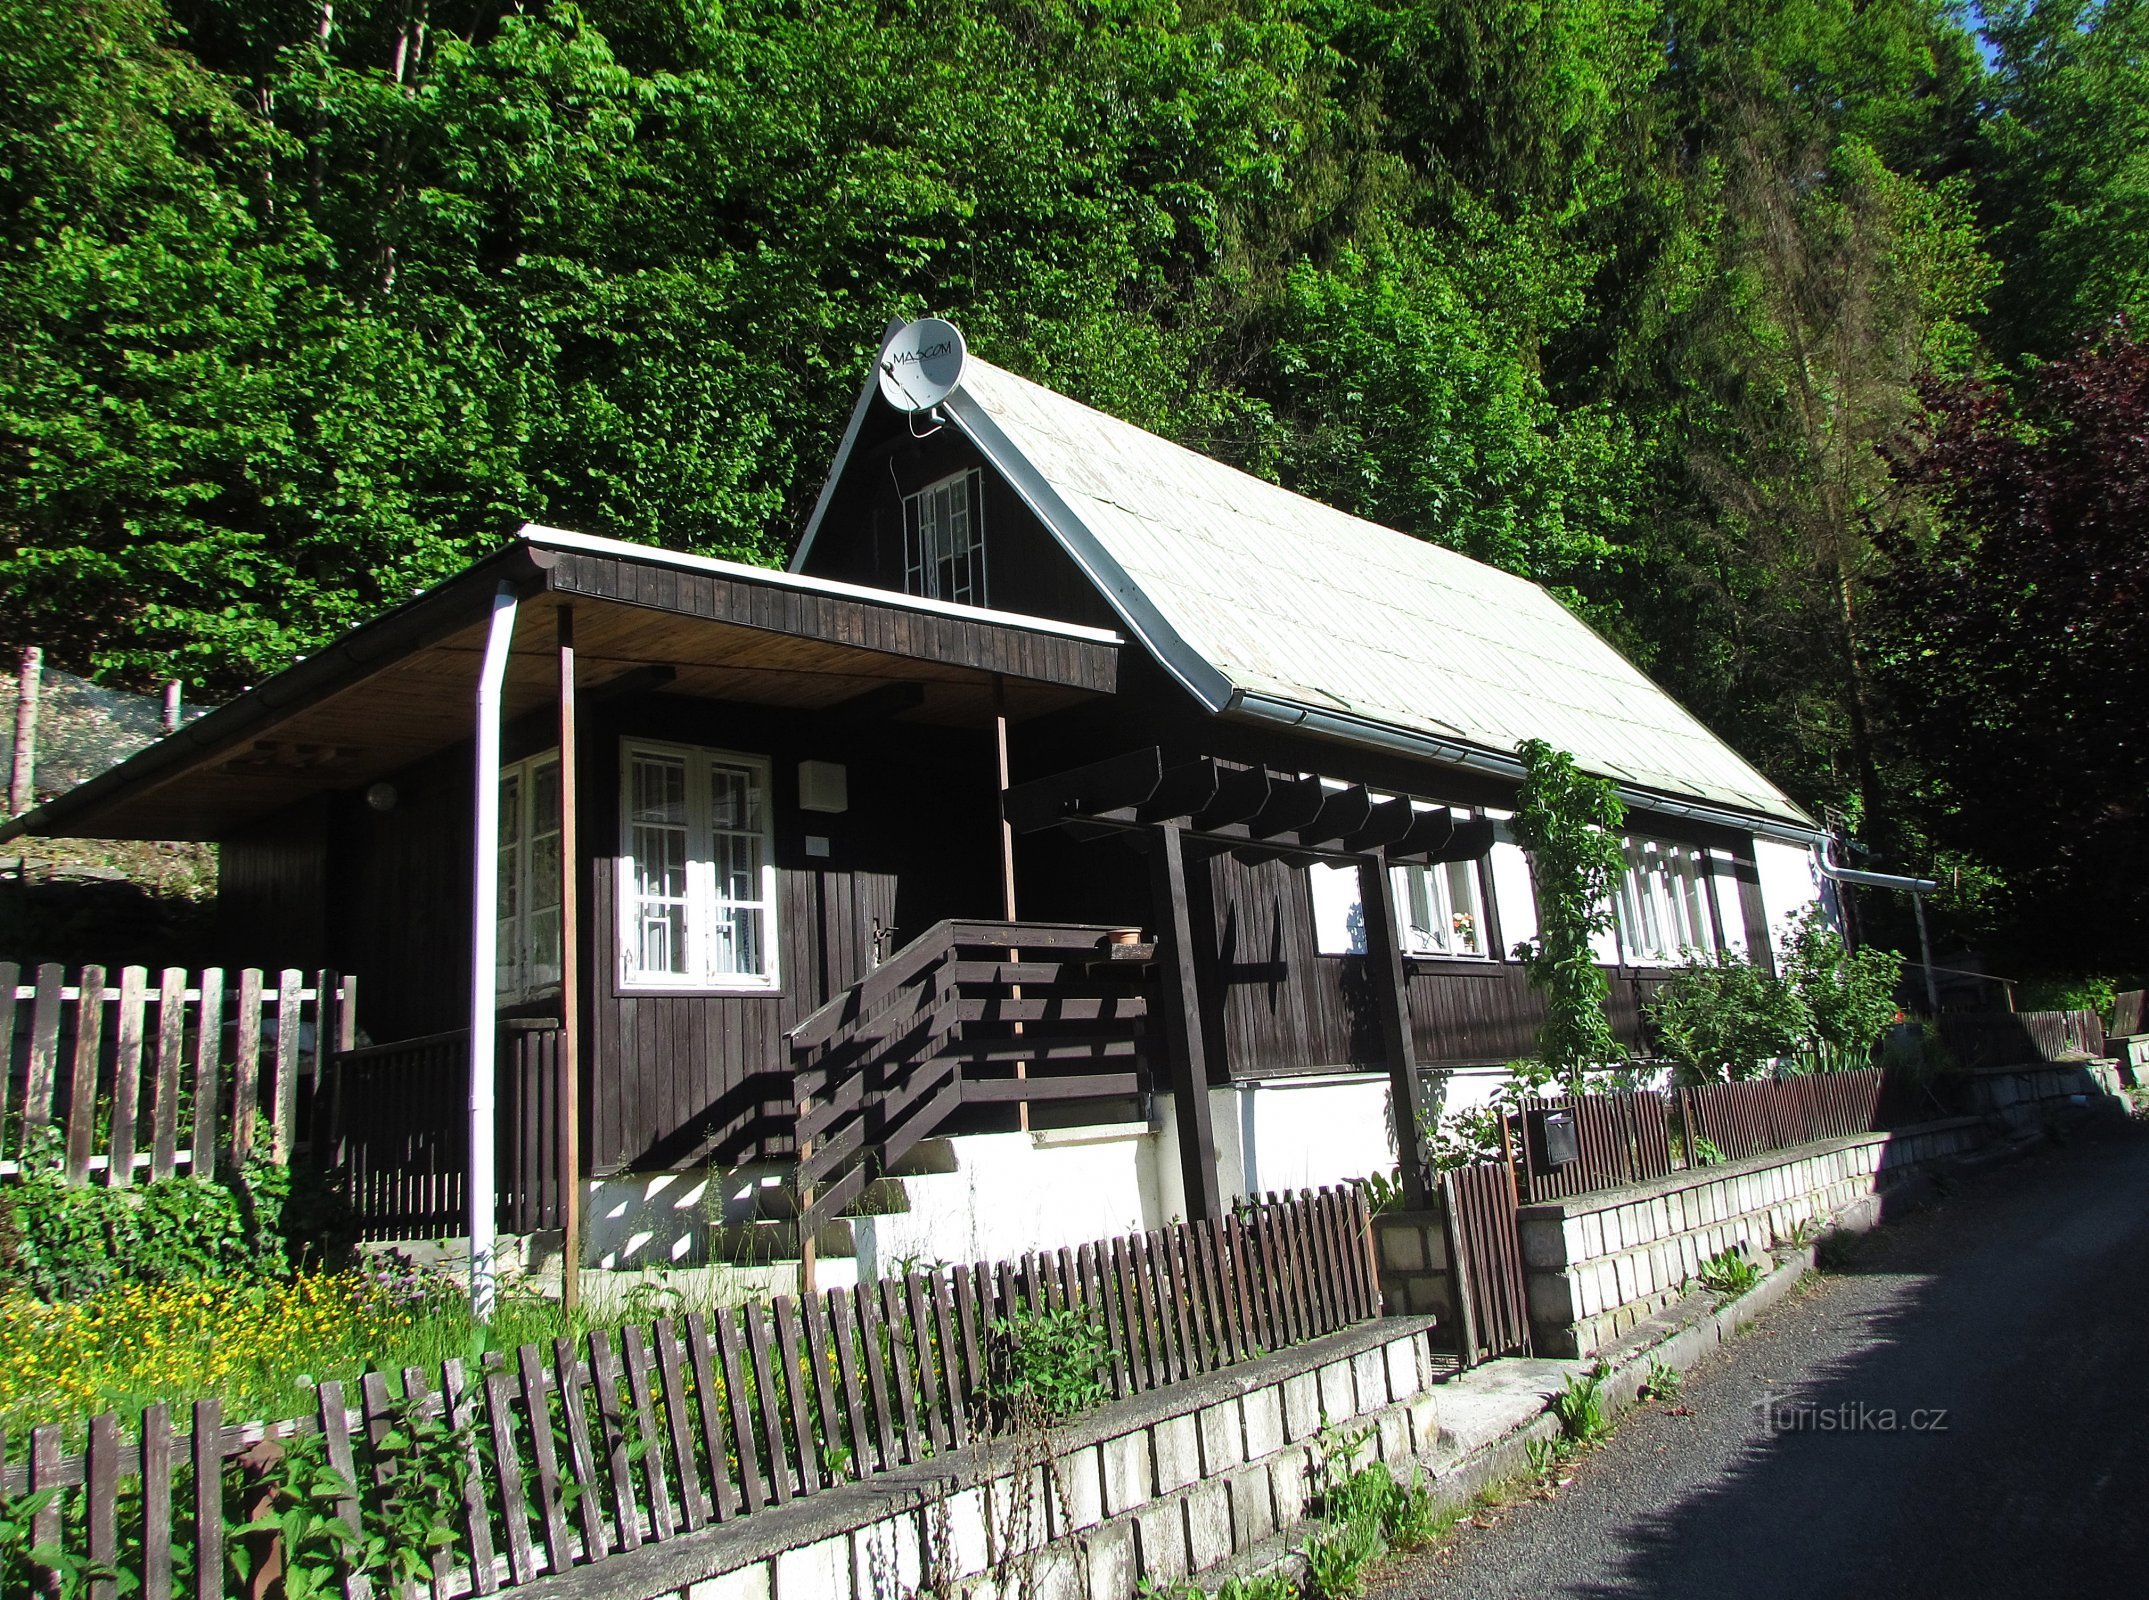
{"type": "Polygon", "coordinates": [[[290,1282],[127,1284],[56,1306],[9,1295],[0,1299],[0,1435],[56,1422],[73,1437],[86,1417],[131,1417],[155,1400],[176,1413],[217,1398],[230,1422],[284,1420],[312,1409],[312,1387],[329,1379],[352,1383],[404,1366],[438,1374],[449,1357],[645,1321],[677,1299],[658,1291],[569,1314],[507,1282],[492,1325],[479,1327],[447,1276],[378,1265],[290,1282]]]}

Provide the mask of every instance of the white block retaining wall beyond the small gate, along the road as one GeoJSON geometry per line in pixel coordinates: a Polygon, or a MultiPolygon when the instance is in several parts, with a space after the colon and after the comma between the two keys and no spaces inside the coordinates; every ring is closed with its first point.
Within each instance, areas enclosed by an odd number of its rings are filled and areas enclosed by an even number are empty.
{"type": "Polygon", "coordinates": [[[1760,1261],[1902,1173],[1984,1143],[1981,1119],[1859,1134],[1517,1211],[1539,1355],[1595,1355],[1678,1299],[1708,1256],[1760,1261]]]}

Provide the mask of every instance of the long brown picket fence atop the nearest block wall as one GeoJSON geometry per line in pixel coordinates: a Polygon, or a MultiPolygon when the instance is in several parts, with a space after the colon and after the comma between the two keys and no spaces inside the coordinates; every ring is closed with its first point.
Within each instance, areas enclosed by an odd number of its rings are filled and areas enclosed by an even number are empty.
{"type": "MultiPolygon", "coordinates": [[[[1270,1196],[1214,1226],[666,1317],[475,1370],[406,1368],[393,1385],[370,1374],[357,1396],[322,1383],[292,1422],[230,1428],[204,1400],[181,1430],[159,1405],[97,1417],[84,1454],[62,1454],[45,1426],[28,1463],[4,1465],[0,1493],[86,1488],[47,1503],[34,1544],[138,1581],[142,1600],[215,1600],[234,1456],[309,1435],[365,1484],[383,1435],[417,1407],[462,1430],[460,1538],[434,1594],[490,1594],[963,1445],[995,1426],[991,1374],[1025,1312],[1074,1308],[1102,1329],[1098,1377],[1115,1396],[1367,1321],[1369,1226],[1356,1190],[1270,1196]]],[[[346,1501],[346,1521],[357,1514],[346,1501]]],[[[99,1600],[112,1591],[92,1585],[99,1600]]]]}

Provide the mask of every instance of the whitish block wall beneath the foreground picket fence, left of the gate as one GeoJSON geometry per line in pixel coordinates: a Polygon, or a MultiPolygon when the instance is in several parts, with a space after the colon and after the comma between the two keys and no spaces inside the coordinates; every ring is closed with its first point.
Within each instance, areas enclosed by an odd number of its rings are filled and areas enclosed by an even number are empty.
{"type": "Polygon", "coordinates": [[[1047,1467],[997,1441],[823,1490],[662,1546],[660,1581],[615,1561],[604,1594],[1133,1600],[1145,1581],[1199,1581],[1281,1551],[1307,1516],[1324,1428],[1365,1432],[1367,1458],[1405,1471],[1433,1454],[1425,1334],[1425,1319],[1384,1319],[1113,1402],[1055,1430],[1047,1467]]]}

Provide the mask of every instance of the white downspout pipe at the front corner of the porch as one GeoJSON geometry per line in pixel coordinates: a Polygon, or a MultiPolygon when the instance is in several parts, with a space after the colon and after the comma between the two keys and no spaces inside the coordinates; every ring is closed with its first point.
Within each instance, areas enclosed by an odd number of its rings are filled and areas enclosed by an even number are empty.
{"type": "Polygon", "coordinates": [[[499,1042],[501,960],[501,685],[507,681],[507,646],[516,638],[516,591],[501,584],[492,595],[492,625],[486,659],[477,672],[477,825],[471,861],[471,1314],[492,1321],[494,1308],[494,1211],[499,1209],[499,1162],[494,1151],[494,1048],[499,1042]]]}

